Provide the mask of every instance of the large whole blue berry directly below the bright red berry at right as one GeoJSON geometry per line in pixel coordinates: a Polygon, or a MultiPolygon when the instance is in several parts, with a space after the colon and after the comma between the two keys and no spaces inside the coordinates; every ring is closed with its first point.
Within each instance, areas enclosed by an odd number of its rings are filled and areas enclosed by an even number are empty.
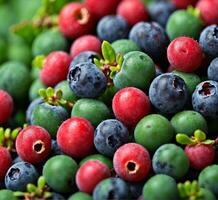
{"type": "Polygon", "coordinates": [[[152,81],[149,97],[160,113],[173,114],[184,108],[188,100],[188,91],[183,79],[174,74],[165,73],[152,81]]]}

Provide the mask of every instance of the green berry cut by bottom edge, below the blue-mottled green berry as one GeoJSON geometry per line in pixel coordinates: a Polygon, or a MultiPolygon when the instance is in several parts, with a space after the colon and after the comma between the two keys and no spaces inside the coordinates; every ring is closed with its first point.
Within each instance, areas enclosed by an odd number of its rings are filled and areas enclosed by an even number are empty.
{"type": "Polygon", "coordinates": [[[155,175],[144,185],[143,197],[146,200],[176,200],[179,192],[176,181],[167,175],[155,175]]]}

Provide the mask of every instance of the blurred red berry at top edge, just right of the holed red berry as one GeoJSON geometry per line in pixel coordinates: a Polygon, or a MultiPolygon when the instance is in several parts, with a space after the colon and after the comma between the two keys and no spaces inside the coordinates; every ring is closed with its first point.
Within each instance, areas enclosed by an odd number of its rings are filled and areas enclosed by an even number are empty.
{"type": "Polygon", "coordinates": [[[85,4],[96,19],[100,19],[105,15],[115,14],[120,1],[121,0],[85,0],[85,4]]]}

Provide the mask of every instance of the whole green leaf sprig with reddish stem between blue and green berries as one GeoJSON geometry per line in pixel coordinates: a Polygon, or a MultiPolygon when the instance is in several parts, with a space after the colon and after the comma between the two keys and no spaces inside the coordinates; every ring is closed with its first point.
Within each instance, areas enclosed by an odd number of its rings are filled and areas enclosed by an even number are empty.
{"type": "Polygon", "coordinates": [[[113,83],[113,78],[116,73],[121,70],[123,63],[123,55],[116,54],[111,44],[103,41],[101,45],[102,59],[94,58],[94,63],[97,65],[107,77],[108,85],[113,83]]]}

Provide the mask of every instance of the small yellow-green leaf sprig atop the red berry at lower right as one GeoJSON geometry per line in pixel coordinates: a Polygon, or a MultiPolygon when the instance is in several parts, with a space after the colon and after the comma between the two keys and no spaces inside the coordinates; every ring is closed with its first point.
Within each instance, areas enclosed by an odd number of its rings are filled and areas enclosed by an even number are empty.
{"type": "Polygon", "coordinates": [[[186,134],[178,133],[176,135],[176,141],[179,144],[183,144],[183,145],[215,144],[215,140],[206,139],[206,134],[201,130],[196,130],[194,132],[194,136],[191,137],[187,136],[186,134]]]}

